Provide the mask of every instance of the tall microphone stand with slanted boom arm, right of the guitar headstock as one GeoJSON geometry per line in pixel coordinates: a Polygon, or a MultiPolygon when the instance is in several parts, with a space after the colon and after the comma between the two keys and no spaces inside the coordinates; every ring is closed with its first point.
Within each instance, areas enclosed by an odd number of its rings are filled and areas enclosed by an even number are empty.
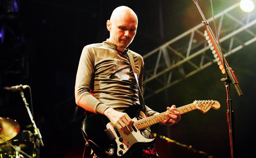
{"type": "Polygon", "coordinates": [[[205,25],[208,36],[210,37],[210,39],[212,41],[212,45],[213,45],[215,51],[217,52],[220,61],[223,64],[223,67],[224,67],[223,72],[225,71],[225,74],[226,74],[226,77],[222,78],[221,81],[224,82],[225,87],[226,87],[226,93],[227,93],[227,122],[228,122],[228,127],[229,127],[229,142],[230,142],[231,158],[235,158],[236,150],[234,150],[234,148],[235,148],[234,111],[232,110],[232,102],[231,102],[231,98],[230,98],[230,83],[232,83],[232,85],[235,87],[239,96],[242,96],[243,93],[238,85],[238,81],[237,81],[236,76],[234,75],[234,71],[229,67],[227,60],[221,51],[220,43],[218,43],[217,40],[215,39],[214,34],[209,26],[209,23],[208,23],[208,21],[206,21],[198,3],[197,3],[197,0],[193,0],[193,2],[196,4],[198,11],[200,12],[200,14],[203,18],[202,22],[205,25]]]}

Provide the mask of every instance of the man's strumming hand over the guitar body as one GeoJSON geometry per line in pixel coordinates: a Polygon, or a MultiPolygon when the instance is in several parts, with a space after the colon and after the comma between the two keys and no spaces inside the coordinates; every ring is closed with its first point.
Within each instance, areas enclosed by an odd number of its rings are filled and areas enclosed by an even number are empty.
{"type": "Polygon", "coordinates": [[[129,135],[132,132],[131,125],[134,121],[127,115],[127,113],[119,112],[111,107],[104,111],[104,115],[118,128],[121,129],[124,134],[129,135]]]}

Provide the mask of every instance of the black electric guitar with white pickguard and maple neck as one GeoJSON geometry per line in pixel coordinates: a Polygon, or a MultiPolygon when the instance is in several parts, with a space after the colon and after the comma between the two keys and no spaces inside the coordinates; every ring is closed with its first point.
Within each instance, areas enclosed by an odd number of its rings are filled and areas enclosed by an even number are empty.
{"type": "MultiPolygon", "coordinates": [[[[125,135],[122,130],[115,127],[104,115],[91,115],[84,119],[82,123],[84,138],[98,157],[121,158],[128,154],[133,146],[151,146],[154,144],[155,138],[145,138],[142,136],[141,130],[167,120],[166,114],[169,111],[139,120],[138,114],[141,107],[141,105],[132,105],[123,111],[134,121],[132,124],[133,131],[129,135],[125,135]],[[137,113],[135,113],[136,111],[137,113]]],[[[206,113],[210,108],[219,109],[219,107],[221,105],[217,101],[194,101],[191,104],[176,108],[175,111],[183,114],[198,109],[206,113]]]]}

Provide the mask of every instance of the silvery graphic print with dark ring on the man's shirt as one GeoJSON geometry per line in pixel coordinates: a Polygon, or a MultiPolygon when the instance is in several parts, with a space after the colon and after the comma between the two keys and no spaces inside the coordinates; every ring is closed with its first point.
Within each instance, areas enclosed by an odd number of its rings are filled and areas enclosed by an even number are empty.
{"type": "Polygon", "coordinates": [[[130,78],[130,66],[123,61],[116,61],[111,79],[119,78],[120,80],[129,80],[130,78]]]}

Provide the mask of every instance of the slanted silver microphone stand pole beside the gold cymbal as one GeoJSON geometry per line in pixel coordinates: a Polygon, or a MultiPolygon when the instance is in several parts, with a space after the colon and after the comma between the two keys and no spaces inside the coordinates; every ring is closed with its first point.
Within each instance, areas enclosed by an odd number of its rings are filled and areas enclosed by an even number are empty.
{"type": "MultiPolygon", "coordinates": [[[[33,124],[35,136],[37,136],[37,138],[39,139],[40,144],[41,144],[42,146],[44,146],[44,143],[43,143],[43,141],[42,141],[42,136],[41,136],[41,134],[40,134],[39,129],[37,128],[37,125],[35,125],[35,121],[34,121],[34,119],[33,119],[33,116],[32,116],[32,114],[31,114],[31,112],[30,112],[30,109],[29,109],[29,107],[28,107],[29,104],[27,103],[26,98],[25,98],[25,96],[24,96],[22,85],[20,85],[20,87],[21,87],[21,89],[20,89],[20,95],[22,96],[23,102],[25,103],[25,106],[26,106],[27,111],[28,111],[28,115],[29,115],[30,120],[31,120],[31,122],[32,122],[32,124],[33,124]]],[[[35,141],[35,142],[36,142],[36,141],[35,141]]]]}

